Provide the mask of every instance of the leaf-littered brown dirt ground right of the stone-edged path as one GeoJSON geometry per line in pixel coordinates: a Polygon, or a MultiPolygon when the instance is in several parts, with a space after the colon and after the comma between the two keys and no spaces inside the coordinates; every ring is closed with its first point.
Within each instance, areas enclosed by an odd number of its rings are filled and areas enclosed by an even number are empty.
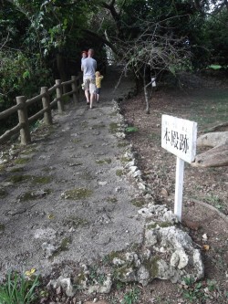
{"type": "MultiPolygon", "coordinates": [[[[171,210],[176,159],[161,148],[161,115],[196,121],[198,136],[207,128],[227,121],[227,83],[223,79],[199,77],[192,84],[193,88],[157,88],[150,99],[150,114],[145,113],[143,94],[122,103],[128,125],[137,128],[129,132],[128,140],[138,155],[143,177],[154,190],[158,204],[167,204],[171,210]],[[219,110],[221,105],[223,114],[219,110]]],[[[193,168],[185,163],[182,225],[202,251],[205,278],[198,286],[189,284],[186,289],[158,280],[142,290],[140,303],[227,303],[227,176],[227,167],[193,168]]]]}

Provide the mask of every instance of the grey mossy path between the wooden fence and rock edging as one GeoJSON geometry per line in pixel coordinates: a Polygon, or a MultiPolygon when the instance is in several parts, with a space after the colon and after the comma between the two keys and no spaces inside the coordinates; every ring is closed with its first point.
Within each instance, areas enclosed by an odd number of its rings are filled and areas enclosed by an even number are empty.
{"type": "Polygon", "coordinates": [[[113,75],[94,109],[83,97],[70,104],[51,129],[38,129],[33,143],[12,149],[2,165],[1,276],[11,267],[46,275],[61,265],[64,273],[68,263],[91,262],[140,241],[143,225],[130,203],[138,190],[121,175],[129,148],[115,136],[122,121],[112,101],[132,83],[124,79],[113,91],[113,75]]]}

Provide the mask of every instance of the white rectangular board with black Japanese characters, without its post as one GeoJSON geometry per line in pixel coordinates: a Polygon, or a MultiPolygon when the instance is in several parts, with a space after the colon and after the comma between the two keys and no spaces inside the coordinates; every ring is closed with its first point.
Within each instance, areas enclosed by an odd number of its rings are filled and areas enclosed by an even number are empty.
{"type": "Polygon", "coordinates": [[[161,147],[184,162],[193,162],[196,155],[197,123],[162,115],[161,147]]]}

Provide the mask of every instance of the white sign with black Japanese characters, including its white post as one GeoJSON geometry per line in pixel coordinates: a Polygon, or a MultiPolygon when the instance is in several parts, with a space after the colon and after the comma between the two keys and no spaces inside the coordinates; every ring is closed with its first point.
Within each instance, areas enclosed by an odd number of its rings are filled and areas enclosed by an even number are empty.
{"type": "Polygon", "coordinates": [[[181,222],[184,162],[196,155],[197,123],[162,115],[161,147],[177,156],[174,214],[181,222]]]}

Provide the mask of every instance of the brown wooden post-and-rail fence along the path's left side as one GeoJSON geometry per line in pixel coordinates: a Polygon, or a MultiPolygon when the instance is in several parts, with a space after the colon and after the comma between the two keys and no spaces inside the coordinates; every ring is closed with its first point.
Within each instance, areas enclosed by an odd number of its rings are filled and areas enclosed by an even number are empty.
{"type": "Polygon", "coordinates": [[[5,133],[0,136],[0,143],[5,142],[5,140],[8,140],[12,135],[18,132],[20,132],[22,145],[30,143],[31,135],[29,131],[29,124],[31,124],[31,122],[43,117],[45,124],[50,125],[52,124],[51,109],[57,105],[58,112],[62,113],[64,111],[64,97],[72,95],[74,102],[79,100],[79,79],[79,76],[71,76],[71,80],[67,80],[65,82],[57,79],[56,84],[52,88],[47,89],[47,87],[42,87],[40,94],[30,100],[26,100],[25,96],[16,97],[16,106],[0,112],[0,121],[9,117],[11,114],[16,113],[17,111],[19,122],[14,128],[5,131],[5,133]],[[67,85],[71,85],[71,90],[63,94],[63,88],[67,85]],[[56,97],[54,100],[51,100],[51,95],[53,93],[56,93],[56,97]],[[28,118],[27,108],[37,101],[42,101],[43,109],[39,110],[36,112],[36,114],[28,118]]]}

